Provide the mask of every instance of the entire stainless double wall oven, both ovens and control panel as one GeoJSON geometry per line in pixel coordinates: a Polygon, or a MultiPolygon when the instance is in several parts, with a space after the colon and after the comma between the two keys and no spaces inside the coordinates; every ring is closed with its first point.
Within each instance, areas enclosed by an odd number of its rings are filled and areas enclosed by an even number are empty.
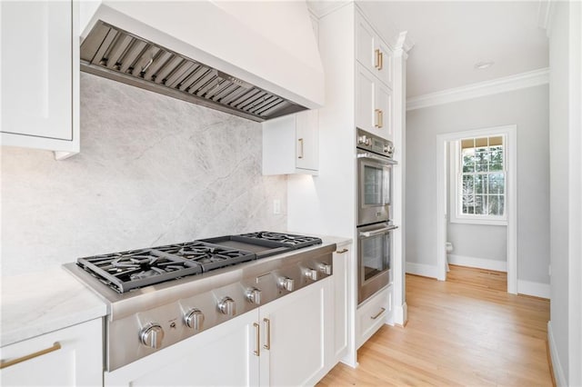
{"type": "Polygon", "coordinates": [[[357,129],[358,303],[392,281],[392,142],[357,129]]]}

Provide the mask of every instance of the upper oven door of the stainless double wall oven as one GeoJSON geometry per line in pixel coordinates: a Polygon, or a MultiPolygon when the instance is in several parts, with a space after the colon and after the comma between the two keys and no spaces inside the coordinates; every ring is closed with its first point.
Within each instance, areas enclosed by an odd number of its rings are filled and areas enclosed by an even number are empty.
{"type": "Polygon", "coordinates": [[[387,157],[357,152],[357,225],[390,219],[392,165],[387,157]]]}

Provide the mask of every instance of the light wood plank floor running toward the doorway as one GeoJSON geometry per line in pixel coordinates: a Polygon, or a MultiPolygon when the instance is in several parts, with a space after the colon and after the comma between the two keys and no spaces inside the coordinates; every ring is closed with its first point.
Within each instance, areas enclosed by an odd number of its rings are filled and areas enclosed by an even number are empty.
{"type": "Polygon", "coordinates": [[[447,282],[406,275],[406,327],[385,325],[358,351],[356,369],[340,363],[319,385],[551,386],[549,301],[459,270],[447,282]]]}

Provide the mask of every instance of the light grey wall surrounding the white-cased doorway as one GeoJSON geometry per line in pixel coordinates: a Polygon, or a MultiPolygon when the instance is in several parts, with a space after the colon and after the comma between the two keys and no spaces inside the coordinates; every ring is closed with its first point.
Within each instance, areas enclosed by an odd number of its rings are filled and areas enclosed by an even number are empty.
{"type": "Polygon", "coordinates": [[[406,114],[406,263],[437,273],[437,134],[517,124],[517,278],[549,283],[547,85],[406,114]]]}

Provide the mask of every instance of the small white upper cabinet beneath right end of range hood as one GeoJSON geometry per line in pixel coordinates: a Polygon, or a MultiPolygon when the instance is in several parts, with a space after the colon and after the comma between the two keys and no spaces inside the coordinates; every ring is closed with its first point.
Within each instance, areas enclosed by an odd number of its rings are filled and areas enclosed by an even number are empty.
{"type": "Polygon", "coordinates": [[[318,169],[316,110],[263,123],[263,174],[317,174],[318,169]]]}

